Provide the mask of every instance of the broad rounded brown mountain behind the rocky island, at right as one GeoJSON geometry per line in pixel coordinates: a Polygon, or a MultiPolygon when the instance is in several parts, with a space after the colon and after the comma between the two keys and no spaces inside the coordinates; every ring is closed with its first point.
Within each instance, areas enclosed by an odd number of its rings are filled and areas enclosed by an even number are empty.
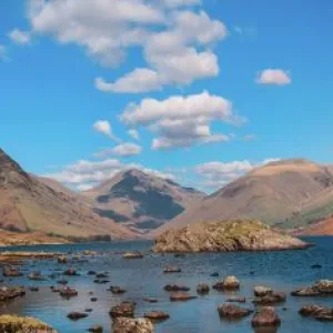
{"type": "Polygon", "coordinates": [[[315,210],[317,218],[323,215],[323,206],[326,214],[333,213],[332,168],[302,159],[284,160],[252,170],[205,196],[155,233],[192,222],[232,219],[259,219],[289,229],[304,225],[305,215],[315,210]]]}

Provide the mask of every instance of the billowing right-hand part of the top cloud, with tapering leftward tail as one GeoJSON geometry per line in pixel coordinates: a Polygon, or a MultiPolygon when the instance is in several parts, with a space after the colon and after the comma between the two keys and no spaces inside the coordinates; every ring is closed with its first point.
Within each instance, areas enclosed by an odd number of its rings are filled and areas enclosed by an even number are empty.
{"type": "Polygon", "coordinates": [[[204,11],[176,11],[167,30],[147,36],[143,51],[151,68],[135,69],[113,83],[99,78],[95,87],[109,92],[138,93],[216,77],[220,71],[218,57],[205,47],[225,36],[225,26],[211,20],[204,11]],[[198,47],[203,50],[199,51],[198,47]]]}

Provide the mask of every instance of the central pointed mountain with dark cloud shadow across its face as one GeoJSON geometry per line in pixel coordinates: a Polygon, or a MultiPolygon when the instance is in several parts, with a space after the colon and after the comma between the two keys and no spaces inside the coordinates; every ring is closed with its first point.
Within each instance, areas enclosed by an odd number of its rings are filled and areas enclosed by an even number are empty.
{"type": "Polygon", "coordinates": [[[82,194],[93,200],[94,211],[101,216],[140,233],[164,224],[204,196],[192,188],[135,169],[120,172],[82,194]]]}

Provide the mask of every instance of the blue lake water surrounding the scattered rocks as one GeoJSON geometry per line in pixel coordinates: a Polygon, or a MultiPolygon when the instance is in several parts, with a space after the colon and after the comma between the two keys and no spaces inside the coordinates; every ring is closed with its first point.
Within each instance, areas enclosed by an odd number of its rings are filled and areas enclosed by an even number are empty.
{"type": "MultiPolygon", "coordinates": [[[[0,305],[0,312],[36,316],[63,333],[87,332],[95,324],[102,325],[104,332],[112,332],[110,307],[121,301],[131,300],[137,302],[135,316],[142,316],[144,312],[151,310],[162,310],[170,314],[170,320],[155,325],[158,333],[245,333],[253,332],[252,316],[236,322],[221,321],[216,309],[228,297],[234,295],[246,296],[248,302],[241,306],[254,310],[251,303],[253,286],[260,284],[287,293],[286,302],[275,306],[282,320],[278,332],[333,332],[333,323],[304,319],[297,313],[301,306],[309,303],[333,306],[333,296],[290,296],[292,290],[312,284],[316,280],[333,280],[333,238],[309,238],[307,241],[315,243],[315,246],[302,251],[188,254],[184,258],[148,253],[139,260],[124,260],[120,252],[131,250],[147,252],[152,245],[151,242],[12,248],[11,251],[81,252],[94,250],[101,252],[101,255],[88,258],[87,262],[70,262],[69,264],[59,264],[57,260],[27,261],[22,265],[26,276],[31,271],[40,271],[43,275],[56,272],[60,275],[56,280],[49,279],[41,282],[30,281],[27,278],[11,280],[3,278],[1,285],[39,285],[40,291],[28,291],[24,297],[0,305]],[[312,269],[313,264],[320,264],[322,268],[312,269]],[[182,272],[163,274],[167,265],[176,265],[182,269],[182,272]],[[62,276],[61,273],[68,266],[78,269],[81,275],[62,276]],[[90,270],[109,272],[110,283],[93,283],[95,278],[87,274],[90,270]],[[210,274],[213,272],[219,272],[220,278],[211,278],[210,274]],[[225,294],[211,290],[208,295],[179,303],[170,302],[169,293],[163,290],[163,286],[169,283],[184,284],[190,286],[191,293],[195,295],[199,283],[212,285],[224,275],[239,278],[241,282],[239,292],[225,294]],[[77,297],[64,300],[58,293],[50,291],[49,286],[57,285],[57,281],[61,279],[69,280],[69,286],[79,291],[77,297]],[[123,295],[113,295],[107,291],[109,285],[122,286],[128,292],[123,295]],[[90,301],[90,291],[93,292],[93,296],[98,297],[98,302],[90,301]],[[147,303],[143,301],[144,297],[157,297],[159,302],[147,303]],[[83,312],[87,307],[92,309],[87,319],[78,322],[67,319],[69,312],[83,312]]],[[[274,331],[265,331],[265,333],[271,332],[274,331]]]]}

